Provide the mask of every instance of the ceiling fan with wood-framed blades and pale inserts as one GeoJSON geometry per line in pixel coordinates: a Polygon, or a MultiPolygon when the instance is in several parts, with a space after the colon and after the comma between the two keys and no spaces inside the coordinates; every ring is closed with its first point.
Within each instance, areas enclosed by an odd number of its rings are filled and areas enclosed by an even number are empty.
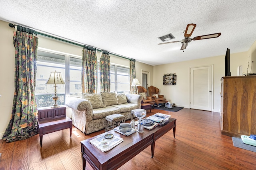
{"type": "MultiPolygon", "coordinates": [[[[186,49],[186,47],[188,46],[188,43],[190,43],[192,40],[200,40],[200,39],[209,39],[209,38],[217,38],[220,37],[221,33],[214,33],[214,34],[208,34],[208,35],[201,35],[201,36],[197,36],[194,38],[190,38],[194,29],[196,27],[196,24],[194,23],[189,23],[187,25],[186,30],[184,30],[184,39],[182,39],[181,41],[171,41],[171,42],[166,42],[166,43],[160,43],[160,44],[169,44],[169,43],[178,43],[181,42],[182,46],[180,48],[180,50],[184,50],[186,49]]],[[[158,44],[158,45],[160,45],[158,44]]]]}

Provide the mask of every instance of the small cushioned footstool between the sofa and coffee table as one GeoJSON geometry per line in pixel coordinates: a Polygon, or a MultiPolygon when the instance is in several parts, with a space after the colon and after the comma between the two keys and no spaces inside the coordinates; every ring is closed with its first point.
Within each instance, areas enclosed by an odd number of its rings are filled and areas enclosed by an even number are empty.
{"type": "Polygon", "coordinates": [[[125,116],[121,114],[108,115],[105,117],[105,132],[111,131],[116,126],[119,126],[120,122],[124,123],[125,116]],[[111,129],[108,127],[108,122],[111,123],[111,129]]]}

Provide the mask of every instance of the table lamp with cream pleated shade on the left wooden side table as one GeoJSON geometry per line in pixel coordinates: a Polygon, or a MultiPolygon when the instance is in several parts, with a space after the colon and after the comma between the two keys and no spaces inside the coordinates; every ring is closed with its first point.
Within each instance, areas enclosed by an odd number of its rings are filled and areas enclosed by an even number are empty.
{"type": "Polygon", "coordinates": [[[48,80],[46,81],[45,84],[54,84],[54,96],[52,96],[52,99],[54,100],[54,104],[52,106],[52,108],[54,107],[60,107],[57,104],[57,100],[59,98],[59,96],[57,96],[57,90],[56,90],[56,84],[66,84],[65,81],[62,78],[61,72],[51,72],[50,77],[48,78],[48,80]]]}

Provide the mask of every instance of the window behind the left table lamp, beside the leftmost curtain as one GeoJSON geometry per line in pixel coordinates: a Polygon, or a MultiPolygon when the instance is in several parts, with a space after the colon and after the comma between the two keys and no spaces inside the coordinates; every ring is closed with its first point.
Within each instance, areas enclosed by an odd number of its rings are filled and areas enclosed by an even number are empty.
{"type": "Polygon", "coordinates": [[[66,84],[59,84],[57,87],[58,105],[65,104],[65,94],[69,94],[68,97],[81,97],[81,68],[81,58],[38,50],[35,90],[37,107],[52,106],[54,103],[52,100],[54,85],[45,84],[45,82],[48,80],[50,72],[55,70],[61,72],[66,82],[66,84]]]}

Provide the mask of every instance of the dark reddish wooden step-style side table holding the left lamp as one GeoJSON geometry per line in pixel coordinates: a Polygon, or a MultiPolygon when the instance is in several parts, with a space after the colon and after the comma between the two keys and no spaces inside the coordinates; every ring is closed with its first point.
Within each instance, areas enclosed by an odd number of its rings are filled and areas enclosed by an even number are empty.
{"type": "Polygon", "coordinates": [[[51,108],[38,108],[38,131],[40,137],[40,145],[42,147],[43,135],[70,129],[70,138],[72,135],[72,120],[66,117],[66,106],[51,108]]]}

